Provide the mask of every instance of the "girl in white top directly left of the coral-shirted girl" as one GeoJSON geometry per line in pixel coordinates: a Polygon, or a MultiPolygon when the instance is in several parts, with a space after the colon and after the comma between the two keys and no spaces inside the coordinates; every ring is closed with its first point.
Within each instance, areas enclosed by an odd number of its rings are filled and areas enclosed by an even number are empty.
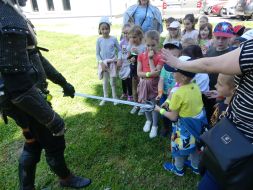
{"type": "MultiPolygon", "coordinates": [[[[146,46],[143,43],[143,31],[140,26],[134,25],[130,28],[128,37],[129,44],[127,47],[128,51],[128,61],[130,62],[130,77],[132,80],[132,93],[133,93],[133,101],[138,101],[137,94],[137,85],[139,83],[139,78],[137,76],[137,57],[139,54],[143,53],[146,50],[146,46]]],[[[139,108],[134,106],[130,111],[131,114],[135,114],[139,108]]],[[[138,112],[138,115],[143,114],[142,112],[138,112]]]]}

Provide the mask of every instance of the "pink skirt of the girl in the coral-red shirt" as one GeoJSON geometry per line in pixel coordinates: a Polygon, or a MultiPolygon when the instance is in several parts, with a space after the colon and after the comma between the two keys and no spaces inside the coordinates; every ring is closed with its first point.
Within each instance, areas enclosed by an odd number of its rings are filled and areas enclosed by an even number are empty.
{"type": "Polygon", "coordinates": [[[143,103],[146,100],[152,100],[158,95],[159,77],[141,78],[137,87],[138,102],[143,103]]]}

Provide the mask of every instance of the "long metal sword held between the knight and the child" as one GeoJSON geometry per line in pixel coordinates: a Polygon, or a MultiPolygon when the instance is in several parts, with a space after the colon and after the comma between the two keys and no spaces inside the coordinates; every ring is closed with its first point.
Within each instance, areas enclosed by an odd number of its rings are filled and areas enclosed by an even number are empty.
{"type": "Polygon", "coordinates": [[[91,98],[91,99],[96,99],[96,100],[104,100],[106,102],[115,102],[118,104],[124,104],[124,105],[130,105],[130,106],[137,106],[137,107],[140,107],[144,112],[153,111],[155,108],[155,104],[151,101],[146,101],[145,104],[143,104],[143,103],[136,103],[136,102],[119,100],[119,99],[114,99],[114,98],[105,98],[105,97],[94,96],[94,95],[89,95],[89,94],[82,94],[78,92],[75,93],[75,96],[79,96],[83,98],[91,98]]]}

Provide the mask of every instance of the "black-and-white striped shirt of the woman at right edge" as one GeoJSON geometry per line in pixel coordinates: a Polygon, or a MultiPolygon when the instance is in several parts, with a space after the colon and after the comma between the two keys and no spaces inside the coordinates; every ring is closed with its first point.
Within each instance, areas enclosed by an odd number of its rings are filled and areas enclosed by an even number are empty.
{"type": "Polygon", "coordinates": [[[242,75],[235,77],[239,86],[227,116],[253,142],[253,40],[241,46],[239,64],[242,75]]]}

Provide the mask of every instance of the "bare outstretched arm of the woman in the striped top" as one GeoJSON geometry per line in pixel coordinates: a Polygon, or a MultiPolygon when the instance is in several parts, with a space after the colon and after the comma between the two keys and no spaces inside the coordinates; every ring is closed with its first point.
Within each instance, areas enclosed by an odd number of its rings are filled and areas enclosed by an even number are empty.
{"type": "Polygon", "coordinates": [[[162,60],[171,67],[195,73],[241,74],[239,65],[240,48],[217,57],[201,58],[193,61],[181,61],[168,50],[162,50],[162,60]]]}

